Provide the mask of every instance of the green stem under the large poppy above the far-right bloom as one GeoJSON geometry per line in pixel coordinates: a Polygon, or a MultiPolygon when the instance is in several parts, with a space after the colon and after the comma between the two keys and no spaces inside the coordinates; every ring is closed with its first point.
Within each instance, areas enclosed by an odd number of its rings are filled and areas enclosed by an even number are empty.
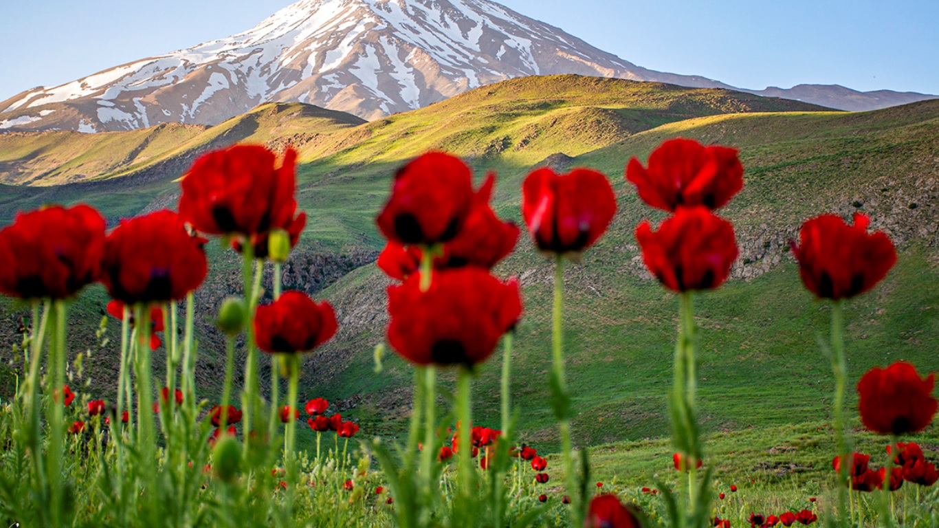
{"type": "Polygon", "coordinates": [[[847,384],[848,368],[844,360],[844,312],[843,302],[835,301],[831,306],[831,368],[835,373],[835,444],[841,460],[838,479],[838,519],[839,526],[846,524],[845,512],[848,510],[848,479],[854,457],[848,447],[844,434],[844,389],[847,384]]]}

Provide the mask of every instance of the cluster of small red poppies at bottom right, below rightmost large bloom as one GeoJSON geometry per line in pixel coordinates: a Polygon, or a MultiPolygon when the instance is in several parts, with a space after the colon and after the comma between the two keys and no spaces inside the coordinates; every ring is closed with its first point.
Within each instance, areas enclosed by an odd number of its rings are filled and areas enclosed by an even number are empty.
{"type": "MultiPolygon", "coordinates": [[[[890,470],[889,490],[900,489],[903,481],[918,484],[920,486],[932,486],[939,480],[939,473],[936,473],[935,465],[926,460],[923,450],[916,443],[898,443],[897,455],[893,459],[894,467],[890,470]]],[[[892,452],[888,445],[886,452],[892,452]]],[[[870,455],[854,452],[852,463],[848,468],[848,475],[851,477],[851,489],[855,491],[870,492],[874,489],[882,489],[886,468],[871,469],[869,467],[870,455]]],[[[831,461],[832,467],[836,472],[840,472],[840,458],[835,457],[831,461]]]]}

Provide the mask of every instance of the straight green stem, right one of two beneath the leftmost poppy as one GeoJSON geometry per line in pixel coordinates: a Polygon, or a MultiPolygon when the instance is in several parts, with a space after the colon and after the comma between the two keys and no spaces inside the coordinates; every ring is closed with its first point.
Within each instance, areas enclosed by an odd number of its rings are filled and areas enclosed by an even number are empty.
{"type": "MultiPolygon", "coordinates": [[[[47,375],[51,380],[52,389],[49,391],[50,395],[54,394],[55,388],[58,389],[59,394],[62,398],[65,398],[64,391],[62,390],[63,385],[65,385],[65,365],[66,365],[66,356],[68,351],[66,349],[66,321],[67,321],[67,312],[68,306],[65,301],[54,301],[53,302],[54,310],[54,327],[55,327],[55,341],[53,346],[53,365],[54,374],[47,375]]],[[[64,447],[64,437],[65,437],[65,424],[64,424],[64,415],[65,415],[65,406],[61,404],[56,404],[54,398],[50,402],[52,404],[52,420],[50,421],[50,442],[49,442],[49,486],[51,487],[52,495],[52,511],[53,511],[53,522],[55,526],[62,525],[64,520],[61,519],[61,515],[64,513],[63,508],[63,497],[62,490],[63,487],[60,485],[62,482],[62,449],[64,447]]]]}

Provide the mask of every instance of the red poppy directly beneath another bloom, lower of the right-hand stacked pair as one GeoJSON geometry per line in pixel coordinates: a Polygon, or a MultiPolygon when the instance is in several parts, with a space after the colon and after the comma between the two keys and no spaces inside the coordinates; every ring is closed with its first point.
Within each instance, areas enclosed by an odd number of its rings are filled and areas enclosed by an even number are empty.
{"type": "Polygon", "coordinates": [[[731,223],[702,207],[679,209],[658,231],[644,220],[636,240],[646,267],[672,291],[720,286],[737,257],[731,223]]]}

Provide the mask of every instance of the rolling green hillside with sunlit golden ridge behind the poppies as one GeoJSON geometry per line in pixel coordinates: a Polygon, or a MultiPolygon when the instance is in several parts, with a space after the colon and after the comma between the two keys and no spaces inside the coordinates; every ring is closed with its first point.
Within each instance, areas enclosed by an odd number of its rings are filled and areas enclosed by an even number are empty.
{"type": "MultiPolygon", "coordinates": [[[[830,366],[816,342],[826,329],[827,308],[801,287],[788,249],[801,222],[823,211],[870,214],[900,252],[885,283],[848,306],[852,383],[871,365],[896,359],[939,369],[939,101],[849,114],[725,90],[561,76],[486,86],[371,123],[310,116],[309,108],[262,107],[200,132],[162,157],[103,174],[102,181],[3,187],[0,223],[18,208],[49,201],[85,200],[112,220],[173,207],[172,179],[195,153],[235,138],[275,147],[292,141],[301,152],[298,199],[310,215],[294,272],[316,270],[327,257],[336,272],[288,286],[318,291],[336,306],[342,325],[328,346],[306,359],[300,396],[339,403],[368,434],[395,434],[406,427],[411,373],[389,354],[384,371],[374,374],[372,354],[387,324],[388,283],[373,265],[347,272],[382,245],[373,218],[394,170],[426,149],[449,149],[466,157],[480,178],[488,170],[498,173],[494,208],[518,221],[519,188],[532,166],[596,167],[608,174],[620,209],[606,237],[566,272],[575,443],[642,441],[669,433],[664,396],[677,302],[643,270],[633,231],[641,219],[662,215],[639,201],[623,180],[623,167],[631,156],[644,161],[661,141],[680,135],[740,148],[747,169],[744,191],[721,211],[736,226],[741,258],[725,287],[696,301],[706,431],[829,418],[830,366]],[[297,125],[294,119],[310,120],[297,125]]],[[[2,148],[0,153],[10,157],[2,148]]],[[[212,253],[213,263],[221,262],[200,297],[207,305],[199,317],[207,368],[217,367],[221,355],[210,313],[238,284],[230,252],[212,253]]],[[[519,276],[527,307],[513,381],[522,435],[550,448],[557,432],[546,391],[551,268],[523,237],[496,272],[519,276]]],[[[99,291],[77,310],[97,323],[103,301],[99,291]]],[[[22,312],[7,302],[0,306],[0,336],[12,343],[10,329],[22,312]]],[[[105,387],[113,384],[114,326],[107,332],[111,344],[88,365],[105,387]]],[[[82,343],[77,349],[96,346],[79,325],[71,332],[82,343]]],[[[475,415],[488,426],[498,423],[499,356],[481,369],[474,392],[475,415]]],[[[154,364],[161,364],[159,357],[154,364]]]]}

